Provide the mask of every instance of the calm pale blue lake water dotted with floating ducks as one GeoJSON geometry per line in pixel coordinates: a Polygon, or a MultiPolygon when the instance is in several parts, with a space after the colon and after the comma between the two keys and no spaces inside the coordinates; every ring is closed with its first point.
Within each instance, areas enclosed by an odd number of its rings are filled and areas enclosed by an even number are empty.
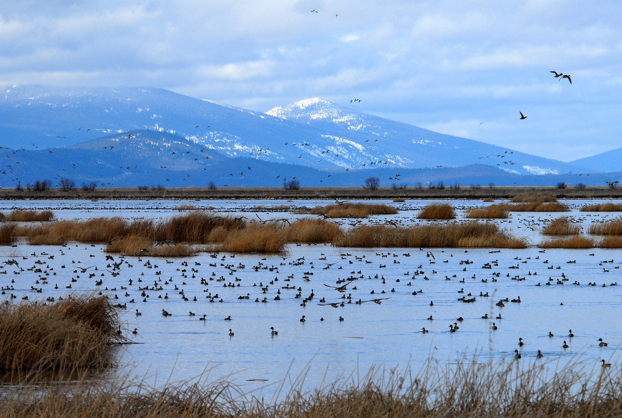
{"type": "MultiPolygon", "coordinates": [[[[428,202],[395,204],[399,214],[373,216],[364,222],[417,222],[417,210],[428,202]]],[[[513,212],[510,219],[494,222],[537,244],[543,239],[539,228],[554,217],[570,216],[587,229],[591,222],[617,216],[578,212],[587,202],[566,202],[573,212],[513,212]]],[[[244,216],[266,220],[310,215],[254,211],[253,207],[287,204],[297,209],[331,201],[2,201],[0,211],[52,209],[59,219],[164,218],[179,213],[173,207],[182,203],[212,206],[214,212],[245,211],[244,216]]],[[[485,205],[481,201],[452,204],[460,209],[485,205]]],[[[458,222],[462,222],[462,216],[458,222]]],[[[67,292],[116,295],[115,302],[127,303],[123,318],[129,328],[138,329],[135,340],[141,343],[124,347],[121,369],[147,376],[158,384],[192,380],[209,370],[210,381],[227,378],[250,390],[281,381],[288,373],[295,377],[307,370],[305,384],[311,387],[323,378],[330,381],[357,369],[362,373],[374,365],[410,365],[417,369],[429,358],[452,363],[461,354],[478,350],[482,358],[509,360],[519,349],[523,360],[529,362],[536,361],[538,350],[544,359],[618,360],[622,292],[611,284],[622,284],[620,250],[431,251],[292,244],[283,257],[203,253],[167,260],[113,255],[115,261],[123,258],[126,263],[121,274],[112,277],[102,245],[20,244],[17,248],[0,247],[0,260],[15,258],[24,270],[6,265],[7,274],[0,275],[0,285],[9,287],[4,290],[6,297],[13,294],[16,300],[26,295],[31,299],[58,297],[67,292]],[[87,273],[74,272],[72,265],[96,266],[97,271],[93,267],[87,273]],[[37,268],[42,271],[35,272],[37,268]],[[96,276],[89,278],[89,273],[96,276]],[[201,283],[202,278],[206,284],[201,283]],[[326,286],[343,285],[341,280],[347,278],[356,280],[344,293],[326,286]],[[100,279],[103,283],[95,285],[100,279]],[[549,279],[551,285],[545,285],[549,279]],[[590,282],[596,286],[588,285],[590,282]],[[541,286],[536,286],[538,283],[541,286]],[[69,285],[72,288],[67,288],[69,285]],[[156,290],[155,285],[161,290],[156,290]],[[42,293],[35,293],[33,289],[39,288],[42,293]],[[183,300],[182,290],[188,301],[183,300]],[[464,293],[459,293],[462,290],[464,293]],[[311,293],[313,299],[301,306],[311,293]],[[468,293],[476,298],[475,302],[458,300],[470,298],[468,293]],[[239,299],[247,295],[248,299],[239,299]],[[277,295],[280,300],[274,300],[277,295]],[[521,303],[495,305],[499,300],[519,297],[521,303]],[[257,298],[266,298],[266,303],[255,302],[257,298]],[[388,299],[381,304],[355,303],[376,298],[388,299]],[[148,302],[142,302],[144,299],[148,302]],[[320,300],[343,302],[343,306],[320,306],[320,300]],[[163,316],[163,309],[172,316],[163,316]],[[136,310],[142,315],[134,315],[136,310]],[[190,311],[196,315],[190,316],[190,311]],[[481,318],[486,314],[490,319],[481,318]],[[199,320],[203,315],[205,321],[199,320]],[[305,321],[300,322],[303,315],[305,321]],[[495,319],[499,315],[502,318],[495,319]],[[231,321],[224,320],[228,316],[231,321]],[[432,320],[427,319],[430,316],[432,320]],[[463,321],[457,320],[460,317],[463,321]],[[459,330],[452,333],[449,325],[454,323],[459,330]],[[493,323],[497,330],[492,329],[493,323]],[[278,335],[271,335],[271,327],[278,335]],[[422,333],[424,327],[429,333],[422,333]],[[229,335],[230,329],[233,336],[229,335]],[[572,338],[568,336],[570,329],[575,335],[572,338]],[[549,332],[554,336],[549,337],[549,332]],[[519,338],[524,340],[522,347],[519,338]],[[599,347],[598,338],[608,346],[599,347]],[[564,341],[569,348],[562,348],[564,341]]]]}

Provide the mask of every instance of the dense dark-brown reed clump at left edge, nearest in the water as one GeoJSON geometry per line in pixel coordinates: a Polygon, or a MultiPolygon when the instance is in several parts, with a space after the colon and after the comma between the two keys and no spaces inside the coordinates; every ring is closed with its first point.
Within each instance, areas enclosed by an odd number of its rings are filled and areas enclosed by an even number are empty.
{"type": "Polygon", "coordinates": [[[126,341],[105,297],[0,304],[0,369],[99,368],[126,341]]]}

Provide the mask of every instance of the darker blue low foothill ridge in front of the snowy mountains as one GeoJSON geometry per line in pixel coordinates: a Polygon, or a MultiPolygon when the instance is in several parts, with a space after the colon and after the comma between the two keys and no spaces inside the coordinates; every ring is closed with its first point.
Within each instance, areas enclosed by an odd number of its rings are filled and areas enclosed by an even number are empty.
{"type": "Polygon", "coordinates": [[[50,179],[57,185],[69,178],[80,186],[95,182],[98,186],[282,186],[296,179],[303,187],[361,186],[364,179],[377,176],[381,186],[401,186],[442,181],[487,186],[552,186],[559,181],[603,185],[622,179],[622,173],[543,174],[522,176],[485,164],[443,168],[396,168],[322,171],[304,165],[273,163],[256,158],[230,157],[195,140],[157,130],[132,130],[106,135],[74,145],[50,148],[11,150],[4,148],[6,158],[0,162],[0,186],[22,186],[36,180],[50,179]]]}

